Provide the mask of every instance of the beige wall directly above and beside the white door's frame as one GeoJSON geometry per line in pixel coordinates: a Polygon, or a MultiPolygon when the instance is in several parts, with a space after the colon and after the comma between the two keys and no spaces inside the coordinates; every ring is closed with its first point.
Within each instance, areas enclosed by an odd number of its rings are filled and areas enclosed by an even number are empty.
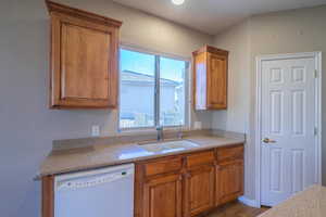
{"type": "MultiPolygon", "coordinates": [[[[254,16],[250,21],[251,68],[255,72],[254,56],[273,53],[323,52],[322,113],[326,105],[326,7],[293,10],[254,16]]],[[[252,77],[255,80],[255,77],[252,77]]],[[[254,86],[251,92],[254,100],[254,86]]],[[[250,103],[253,105],[253,103],[250,103]]],[[[251,106],[251,123],[254,107],[251,106]]],[[[326,116],[323,115],[323,183],[326,184],[326,116]]],[[[252,125],[253,127],[253,125],[252,125]]],[[[252,128],[251,128],[252,129],[252,128]]],[[[254,130],[252,130],[254,132],[254,130]]],[[[254,133],[251,133],[254,136],[254,133]]]]}

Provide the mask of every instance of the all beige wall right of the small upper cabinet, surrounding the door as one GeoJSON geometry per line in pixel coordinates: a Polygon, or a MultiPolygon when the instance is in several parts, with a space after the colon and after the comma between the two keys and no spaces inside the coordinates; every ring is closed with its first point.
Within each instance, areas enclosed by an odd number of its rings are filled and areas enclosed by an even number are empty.
{"type": "MultiPolygon", "coordinates": [[[[213,126],[248,132],[246,151],[246,195],[254,199],[254,100],[255,56],[261,54],[323,51],[326,72],[326,7],[256,15],[215,37],[215,44],[230,51],[229,108],[213,114],[213,126]],[[246,74],[246,75],[244,75],[246,74]],[[240,95],[239,95],[240,94],[240,95]],[[239,95],[239,97],[237,97],[239,95]],[[246,101],[246,102],[244,102],[246,101]],[[225,123],[218,124],[218,122],[225,123]],[[242,126],[242,123],[244,127],[242,126]],[[239,126],[237,124],[240,123],[239,126]]],[[[325,93],[326,76],[323,77],[325,93]]],[[[326,94],[323,94],[325,111],[326,94]]],[[[323,123],[326,117],[323,115],[323,123]]],[[[326,126],[323,126],[323,165],[326,165],[326,126]]],[[[323,167],[326,184],[326,166],[323,167]]]]}

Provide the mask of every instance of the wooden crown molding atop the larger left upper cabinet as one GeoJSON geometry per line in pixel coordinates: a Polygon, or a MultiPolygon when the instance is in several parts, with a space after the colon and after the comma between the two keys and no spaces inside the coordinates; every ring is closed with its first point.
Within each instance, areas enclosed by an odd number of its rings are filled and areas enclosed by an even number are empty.
{"type": "Polygon", "coordinates": [[[117,20],[114,20],[114,18],[109,18],[106,16],[102,16],[102,15],[98,15],[98,14],[95,14],[95,13],[91,13],[91,12],[88,12],[88,11],[84,11],[84,10],[80,10],[80,9],[75,9],[75,8],[72,8],[72,7],[67,7],[67,5],[64,5],[64,4],[61,4],[61,3],[57,3],[57,2],[53,2],[53,1],[49,1],[49,0],[46,0],[46,4],[48,7],[48,11],[49,13],[64,13],[64,14],[67,14],[70,16],[75,16],[75,17],[78,17],[78,18],[84,18],[84,20],[89,20],[91,22],[96,22],[96,23],[99,23],[99,24],[102,24],[102,25],[110,25],[110,26],[115,26],[115,27],[121,27],[122,26],[122,22],[121,21],[117,21],[117,20]]]}

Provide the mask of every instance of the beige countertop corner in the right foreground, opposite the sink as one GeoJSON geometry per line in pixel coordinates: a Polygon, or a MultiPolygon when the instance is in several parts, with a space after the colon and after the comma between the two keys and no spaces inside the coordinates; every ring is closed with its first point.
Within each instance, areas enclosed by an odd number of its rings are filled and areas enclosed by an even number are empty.
{"type": "Polygon", "coordinates": [[[279,205],[268,209],[260,217],[325,217],[326,188],[313,186],[279,205]]]}

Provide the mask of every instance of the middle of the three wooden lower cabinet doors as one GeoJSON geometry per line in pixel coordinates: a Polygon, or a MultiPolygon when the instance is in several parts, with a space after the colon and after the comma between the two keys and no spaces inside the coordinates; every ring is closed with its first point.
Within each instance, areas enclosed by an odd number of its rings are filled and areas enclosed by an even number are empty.
{"type": "Polygon", "coordinates": [[[212,165],[191,169],[185,179],[185,214],[196,216],[214,206],[214,174],[212,165]]]}

